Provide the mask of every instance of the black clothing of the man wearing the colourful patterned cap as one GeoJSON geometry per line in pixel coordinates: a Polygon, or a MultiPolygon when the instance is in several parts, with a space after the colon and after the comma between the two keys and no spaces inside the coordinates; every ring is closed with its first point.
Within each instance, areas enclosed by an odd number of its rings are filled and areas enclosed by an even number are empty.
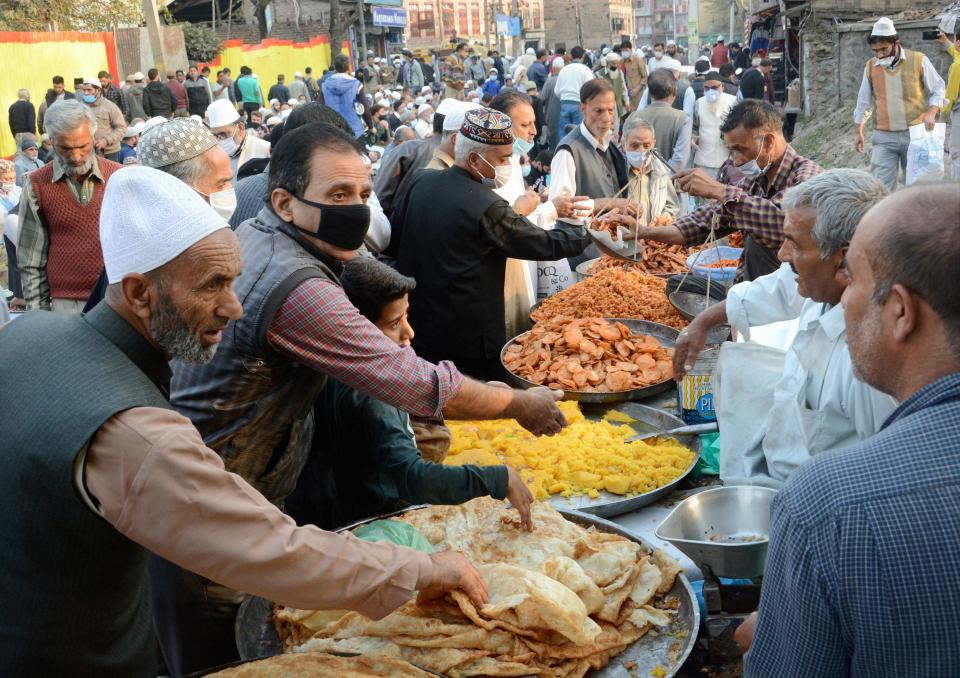
{"type": "Polygon", "coordinates": [[[579,226],[539,228],[458,166],[419,172],[390,221],[397,270],[417,280],[413,347],[458,366],[459,359],[499,364],[508,257],[554,261],[590,244],[579,226]]]}

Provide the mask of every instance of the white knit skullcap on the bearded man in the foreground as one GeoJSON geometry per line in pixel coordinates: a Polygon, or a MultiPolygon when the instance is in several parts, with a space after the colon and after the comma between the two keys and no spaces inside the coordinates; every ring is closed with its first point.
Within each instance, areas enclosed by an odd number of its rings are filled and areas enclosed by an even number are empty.
{"type": "Polygon", "coordinates": [[[221,228],[229,225],[172,174],[139,165],[119,169],[100,209],[107,281],[156,270],[221,228]]]}

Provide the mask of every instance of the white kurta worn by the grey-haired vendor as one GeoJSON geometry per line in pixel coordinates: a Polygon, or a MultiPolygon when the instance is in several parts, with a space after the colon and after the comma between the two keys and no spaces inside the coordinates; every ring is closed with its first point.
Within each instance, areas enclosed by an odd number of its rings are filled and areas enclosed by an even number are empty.
{"type": "Polygon", "coordinates": [[[747,340],[751,326],[798,318],[799,329],[785,353],[754,342],[720,349],[714,396],[725,484],[780,487],[812,455],[876,433],[896,408],[854,377],[843,308],[801,297],[789,264],[734,285],[726,304],[747,340]]]}

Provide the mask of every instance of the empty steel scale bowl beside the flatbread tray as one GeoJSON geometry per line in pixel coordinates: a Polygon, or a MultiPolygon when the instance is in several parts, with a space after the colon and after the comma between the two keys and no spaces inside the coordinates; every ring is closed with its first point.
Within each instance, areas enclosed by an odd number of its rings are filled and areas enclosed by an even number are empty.
{"type": "Polygon", "coordinates": [[[718,577],[759,577],[775,496],[776,490],[751,485],[705,490],[673,509],[655,534],[718,577]]]}

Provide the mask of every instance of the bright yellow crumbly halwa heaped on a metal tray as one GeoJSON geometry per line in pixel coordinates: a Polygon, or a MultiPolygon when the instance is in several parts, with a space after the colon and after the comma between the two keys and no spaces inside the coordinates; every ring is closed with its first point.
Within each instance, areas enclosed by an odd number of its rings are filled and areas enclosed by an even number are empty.
{"type": "Polygon", "coordinates": [[[693,462],[694,452],[671,438],[626,442],[637,432],[622,422],[633,419],[616,410],[591,421],[576,402],[557,404],[568,426],[555,436],[535,436],[513,419],[448,421],[453,440],[444,463],[510,464],[537,499],[596,499],[603,491],[650,492],[676,480],[693,462]]]}

